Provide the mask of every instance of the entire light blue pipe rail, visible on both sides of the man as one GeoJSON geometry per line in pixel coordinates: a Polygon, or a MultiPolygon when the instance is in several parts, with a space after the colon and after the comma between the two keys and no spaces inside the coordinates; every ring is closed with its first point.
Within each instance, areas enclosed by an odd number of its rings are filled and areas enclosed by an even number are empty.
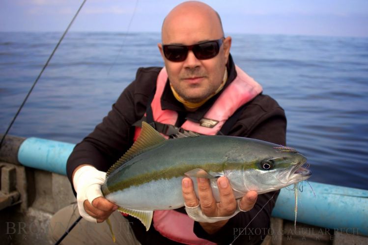
{"type": "MultiPolygon", "coordinates": [[[[66,161],[74,146],[32,137],[21,144],[18,160],[24,166],[66,175],[66,161]]],[[[368,236],[368,190],[310,184],[314,193],[305,186],[298,194],[298,222],[368,236]]],[[[293,221],[294,203],[294,191],[283,188],[272,216],[293,221]]]]}

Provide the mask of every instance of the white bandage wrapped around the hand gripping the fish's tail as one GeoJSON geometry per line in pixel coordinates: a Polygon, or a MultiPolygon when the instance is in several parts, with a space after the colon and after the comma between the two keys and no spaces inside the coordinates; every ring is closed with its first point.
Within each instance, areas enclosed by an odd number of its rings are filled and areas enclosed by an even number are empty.
{"type": "Polygon", "coordinates": [[[105,182],[106,172],[98,171],[92,166],[83,166],[74,173],[73,186],[77,192],[79,214],[85,220],[97,223],[97,220],[85,212],[83,203],[88,200],[91,204],[94,199],[103,196],[101,185],[105,182]]]}

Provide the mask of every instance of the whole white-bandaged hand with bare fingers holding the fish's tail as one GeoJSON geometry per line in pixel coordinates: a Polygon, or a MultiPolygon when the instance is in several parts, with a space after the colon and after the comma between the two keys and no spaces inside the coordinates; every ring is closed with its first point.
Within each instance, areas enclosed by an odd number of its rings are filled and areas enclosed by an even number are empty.
{"type": "Polygon", "coordinates": [[[87,221],[103,222],[118,208],[102,195],[101,185],[105,176],[106,172],[98,171],[90,165],[80,167],[73,175],[78,210],[87,221]]]}

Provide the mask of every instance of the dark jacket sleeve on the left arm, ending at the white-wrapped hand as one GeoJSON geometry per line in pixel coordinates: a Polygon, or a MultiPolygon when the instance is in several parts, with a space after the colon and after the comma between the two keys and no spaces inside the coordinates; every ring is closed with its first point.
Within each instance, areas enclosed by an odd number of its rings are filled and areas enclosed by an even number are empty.
{"type": "MultiPolygon", "coordinates": [[[[135,81],[121,93],[108,115],[74,147],[66,165],[71,183],[73,171],[79,165],[90,164],[106,172],[133,144],[134,128],[131,125],[142,118],[146,109],[146,94],[155,86],[155,82],[153,86],[142,83],[152,78],[155,81],[154,77],[157,77],[156,71],[140,68],[135,81]]],[[[72,189],[76,195],[73,185],[72,189]]]]}

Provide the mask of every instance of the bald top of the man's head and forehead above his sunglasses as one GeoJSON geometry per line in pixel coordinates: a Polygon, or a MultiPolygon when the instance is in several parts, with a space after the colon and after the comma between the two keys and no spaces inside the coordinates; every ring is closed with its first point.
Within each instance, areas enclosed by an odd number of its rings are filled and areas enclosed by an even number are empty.
{"type": "Polygon", "coordinates": [[[219,14],[209,5],[199,1],[187,1],[174,7],[162,25],[162,42],[171,40],[172,34],[207,31],[218,38],[224,36],[219,14]]]}

